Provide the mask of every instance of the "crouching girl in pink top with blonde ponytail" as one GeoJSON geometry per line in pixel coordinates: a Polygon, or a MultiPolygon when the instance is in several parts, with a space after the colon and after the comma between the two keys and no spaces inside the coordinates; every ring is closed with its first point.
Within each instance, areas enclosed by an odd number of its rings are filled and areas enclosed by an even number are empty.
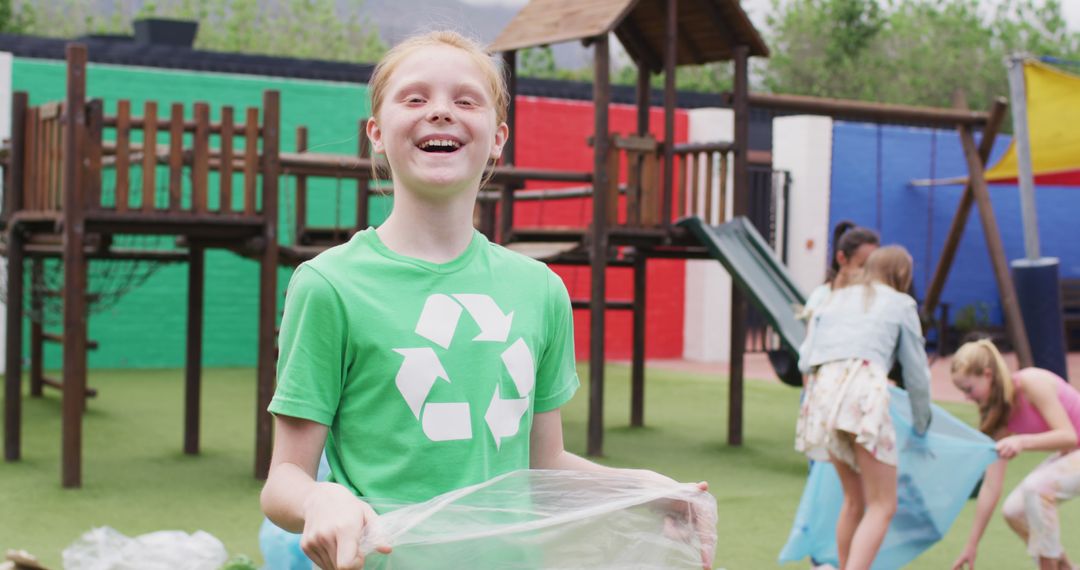
{"type": "Polygon", "coordinates": [[[1080,496],[1080,392],[1041,368],[1010,375],[988,340],[960,347],[951,370],[953,383],[978,405],[980,430],[997,439],[1000,457],[986,470],[971,535],[953,569],[975,567],[978,540],[1001,497],[1007,462],[1021,451],[1054,451],[1009,494],[1002,512],[1040,569],[1074,570],[1062,547],[1057,504],[1080,496]]]}

